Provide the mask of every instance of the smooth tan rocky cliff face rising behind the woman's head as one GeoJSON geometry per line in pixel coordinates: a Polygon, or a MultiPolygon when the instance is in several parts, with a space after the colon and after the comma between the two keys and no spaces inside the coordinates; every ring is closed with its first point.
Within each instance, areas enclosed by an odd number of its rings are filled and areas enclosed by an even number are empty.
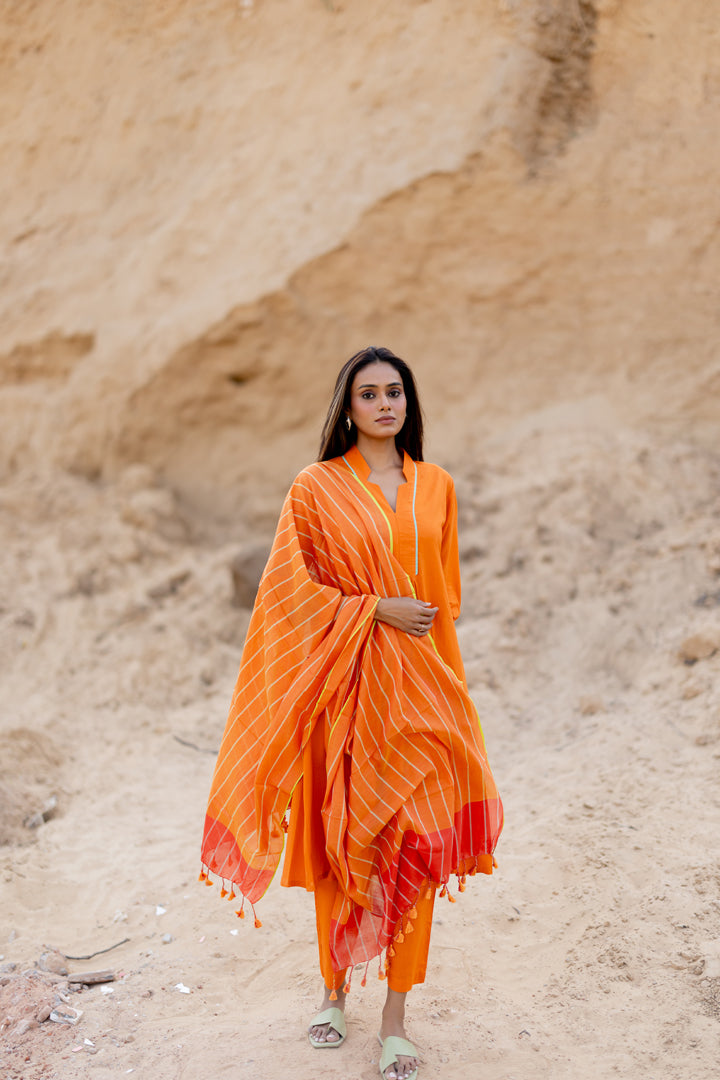
{"type": "Polygon", "coordinates": [[[5,8],[5,475],[276,498],[368,341],[456,467],[557,402],[718,419],[712,4],[5,8]]]}

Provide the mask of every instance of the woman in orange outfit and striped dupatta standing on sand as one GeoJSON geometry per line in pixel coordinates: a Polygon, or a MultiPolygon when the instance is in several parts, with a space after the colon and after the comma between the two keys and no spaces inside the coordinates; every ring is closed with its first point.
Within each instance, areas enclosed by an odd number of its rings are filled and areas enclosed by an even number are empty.
{"type": "Polygon", "coordinates": [[[490,874],[502,827],[459,611],[452,481],[423,461],[407,364],[363,349],[338,376],[320,460],[285,500],[213,780],[201,879],[212,872],[221,895],[230,882],[231,900],[237,890],[256,903],[287,829],[282,883],[314,892],[325,983],[310,1042],[344,1041],[352,968],[384,950],[385,1080],[417,1075],[405,999],[424,980],[436,888],[449,895],[451,874],[461,891],[467,874],[490,874]]]}

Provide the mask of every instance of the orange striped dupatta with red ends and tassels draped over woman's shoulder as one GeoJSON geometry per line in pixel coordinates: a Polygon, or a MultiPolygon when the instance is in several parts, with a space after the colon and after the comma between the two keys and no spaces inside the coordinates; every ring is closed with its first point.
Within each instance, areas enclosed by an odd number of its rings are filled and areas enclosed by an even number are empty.
{"type": "MultiPolygon", "coordinates": [[[[408,459],[409,460],[409,459],[408,459]]],[[[412,596],[392,527],[343,459],[303,470],[283,507],[213,778],[203,873],[266,892],[316,725],[323,823],[339,889],[338,970],[377,956],[425,882],[492,870],[502,804],[477,712],[432,635],[376,621],[412,596]]],[[[312,888],[312,882],[308,882],[312,888]]],[[[461,886],[462,888],[462,886],[461,886]]]]}

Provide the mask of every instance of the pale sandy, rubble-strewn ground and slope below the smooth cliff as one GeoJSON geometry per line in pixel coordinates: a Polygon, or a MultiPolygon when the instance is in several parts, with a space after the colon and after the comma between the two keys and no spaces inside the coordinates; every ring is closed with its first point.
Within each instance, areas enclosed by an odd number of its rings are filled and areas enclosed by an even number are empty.
{"type": "MultiPolygon", "coordinates": [[[[499,872],[437,905],[409,1001],[426,1080],[717,1075],[719,464],[669,433],[542,417],[456,463],[459,632],[507,823],[499,872]]],[[[256,930],[196,880],[253,512],[201,543],[144,470],[0,492],[12,1080],[377,1074],[377,966],[318,1059],[311,897],[273,885],[256,930]],[[117,976],[66,994],[77,1026],[23,1031],[62,1004],[49,947],[124,937],[67,961],[117,976]]]]}

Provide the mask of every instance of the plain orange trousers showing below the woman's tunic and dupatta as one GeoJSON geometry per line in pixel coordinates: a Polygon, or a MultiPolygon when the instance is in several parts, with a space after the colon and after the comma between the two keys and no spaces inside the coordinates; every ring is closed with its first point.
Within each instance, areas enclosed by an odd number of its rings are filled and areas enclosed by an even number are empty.
{"type": "MultiPolygon", "coordinates": [[[[315,881],[315,919],[317,922],[317,945],[320,948],[320,970],[323,973],[328,989],[339,989],[345,977],[347,968],[342,971],[332,970],[330,956],[330,915],[337,892],[335,878],[322,878],[315,881]]],[[[435,904],[435,886],[430,890],[420,890],[421,897],[416,903],[417,919],[412,920],[413,932],[405,934],[402,943],[395,942],[395,955],[388,959],[388,985],[391,990],[407,994],[416,983],[425,981],[427,967],[427,950],[430,948],[430,931],[433,921],[435,904]],[[426,895],[430,891],[430,896],[426,895]]]]}

